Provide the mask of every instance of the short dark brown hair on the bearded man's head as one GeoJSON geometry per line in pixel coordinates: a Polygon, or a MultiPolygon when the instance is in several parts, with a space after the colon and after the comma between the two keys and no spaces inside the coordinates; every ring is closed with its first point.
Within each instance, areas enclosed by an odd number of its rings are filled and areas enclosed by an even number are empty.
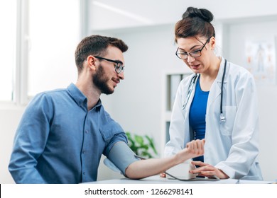
{"type": "Polygon", "coordinates": [[[115,37],[104,37],[101,35],[85,37],[75,50],[75,64],[78,74],[82,71],[83,62],[89,55],[104,56],[107,54],[107,47],[109,46],[117,47],[121,52],[128,50],[128,46],[122,40],[115,37]]]}

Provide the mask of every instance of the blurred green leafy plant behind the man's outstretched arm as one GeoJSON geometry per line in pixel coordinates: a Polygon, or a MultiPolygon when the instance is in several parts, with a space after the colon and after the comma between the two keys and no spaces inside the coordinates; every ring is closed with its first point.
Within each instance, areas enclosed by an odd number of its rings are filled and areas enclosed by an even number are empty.
{"type": "Polygon", "coordinates": [[[153,138],[148,135],[141,136],[126,132],[126,136],[128,138],[128,146],[137,156],[143,158],[154,158],[158,155],[153,138]]]}

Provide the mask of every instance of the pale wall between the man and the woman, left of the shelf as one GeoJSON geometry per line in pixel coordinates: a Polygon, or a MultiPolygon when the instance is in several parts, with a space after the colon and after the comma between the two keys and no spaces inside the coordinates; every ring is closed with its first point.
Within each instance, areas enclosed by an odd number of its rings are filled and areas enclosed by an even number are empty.
{"type": "MultiPolygon", "coordinates": [[[[112,95],[102,95],[106,110],[125,131],[154,137],[160,155],[163,155],[163,74],[165,71],[189,71],[175,57],[176,46],[172,25],[126,28],[101,35],[120,37],[129,50],[124,54],[125,79],[112,95]]],[[[99,180],[109,178],[107,168],[100,165],[99,180]],[[102,170],[103,169],[103,170],[102,170]]]]}

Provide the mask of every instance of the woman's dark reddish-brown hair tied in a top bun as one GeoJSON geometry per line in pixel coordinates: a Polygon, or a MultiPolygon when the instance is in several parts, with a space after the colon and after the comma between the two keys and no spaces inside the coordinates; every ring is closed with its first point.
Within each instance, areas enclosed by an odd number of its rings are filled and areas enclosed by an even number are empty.
{"type": "Polygon", "coordinates": [[[215,37],[214,26],[210,23],[213,18],[207,9],[188,7],[182,19],[175,24],[175,42],[180,37],[215,37]]]}

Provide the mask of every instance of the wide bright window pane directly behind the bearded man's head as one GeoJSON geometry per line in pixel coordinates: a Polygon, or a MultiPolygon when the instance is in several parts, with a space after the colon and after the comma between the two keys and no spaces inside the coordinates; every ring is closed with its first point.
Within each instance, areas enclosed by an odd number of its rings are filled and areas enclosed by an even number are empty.
{"type": "Polygon", "coordinates": [[[29,2],[28,96],[33,96],[77,80],[74,53],[80,41],[80,1],[29,2]]]}

